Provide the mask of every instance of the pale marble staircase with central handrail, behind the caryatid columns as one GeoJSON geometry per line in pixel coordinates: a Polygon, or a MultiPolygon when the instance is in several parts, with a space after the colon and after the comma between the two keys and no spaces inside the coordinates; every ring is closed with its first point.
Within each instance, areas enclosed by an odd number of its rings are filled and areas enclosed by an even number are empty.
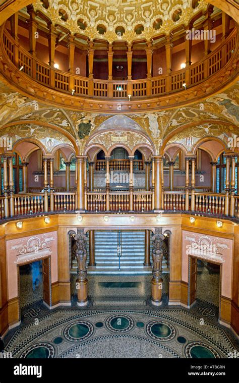
{"type": "MultiPolygon", "coordinates": [[[[144,231],[122,231],[122,256],[117,256],[117,230],[95,231],[96,267],[89,267],[88,273],[102,274],[149,274],[152,267],[144,267],[144,231]]],[[[87,250],[88,250],[87,243],[87,250]]],[[[151,245],[152,250],[152,245],[151,245]]],[[[87,251],[89,254],[89,251],[87,251]]],[[[87,260],[88,264],[89,260],[87,260]]],[[[162,263],[163,272],[168,272],[166,260],[162,263]]],[[[77,269],[77,261],[73,263],[72,272],[77,269]]]]}

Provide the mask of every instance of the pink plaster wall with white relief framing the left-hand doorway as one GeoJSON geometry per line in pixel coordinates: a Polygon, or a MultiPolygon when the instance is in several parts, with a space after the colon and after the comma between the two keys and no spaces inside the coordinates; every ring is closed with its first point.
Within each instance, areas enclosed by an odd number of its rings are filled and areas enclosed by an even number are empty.
{"type": "Polygon", "coordinates": [[[8,299],[18,297],[18,266],[50,256],[51,283],[58,280],[57,232],[6,241],[8,299]]]}

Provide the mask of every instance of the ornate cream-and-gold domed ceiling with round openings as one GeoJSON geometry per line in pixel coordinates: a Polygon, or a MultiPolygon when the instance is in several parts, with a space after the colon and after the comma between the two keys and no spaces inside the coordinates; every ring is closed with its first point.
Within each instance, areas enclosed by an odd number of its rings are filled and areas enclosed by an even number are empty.
{"type": "Polygon", "coordinates": [[[72,34],[109,41],[144,39],[169,34],[192,17],[205,12],[205,0],[37,0],[35,11],[46,15],[53,25],[72,34]]]}

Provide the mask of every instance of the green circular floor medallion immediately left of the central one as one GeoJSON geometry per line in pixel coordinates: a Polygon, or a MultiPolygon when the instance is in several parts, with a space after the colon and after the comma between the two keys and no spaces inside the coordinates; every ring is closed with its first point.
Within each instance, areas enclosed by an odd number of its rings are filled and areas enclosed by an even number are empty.
{"type": "Polygon", "coordinates": [[[90,322],[79,320],[69,324],[64,330],[65,337],[71,342],[79,342],[89,338],[93,334],[93,326],[90,322]]]}

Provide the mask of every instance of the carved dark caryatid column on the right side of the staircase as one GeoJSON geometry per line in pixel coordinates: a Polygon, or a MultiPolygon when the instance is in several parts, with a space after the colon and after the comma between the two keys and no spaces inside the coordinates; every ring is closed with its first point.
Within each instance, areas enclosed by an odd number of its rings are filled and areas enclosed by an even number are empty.
{"type": "Polygon", "coordinates": [[[152,278],[152,299],[151,302],[155,306],[162,304],[162,260],[163,260],[163,240],[162,228],[156,228],[153,236],[153,278],[152,278]]]}

